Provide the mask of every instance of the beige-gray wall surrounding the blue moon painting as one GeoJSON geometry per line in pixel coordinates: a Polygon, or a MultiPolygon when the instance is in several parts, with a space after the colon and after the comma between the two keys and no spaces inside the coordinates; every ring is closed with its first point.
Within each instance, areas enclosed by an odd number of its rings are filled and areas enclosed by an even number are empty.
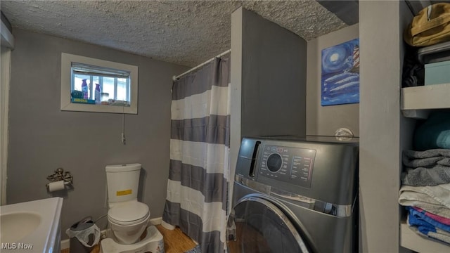
{"type": "Polygon", "coordinates": [[[359,104],[321,106],[322,49],[359,37],[359,25],[345,27],[308,41],[307,135],[334,136],[341,127],[359,136],[359,104]]]}

